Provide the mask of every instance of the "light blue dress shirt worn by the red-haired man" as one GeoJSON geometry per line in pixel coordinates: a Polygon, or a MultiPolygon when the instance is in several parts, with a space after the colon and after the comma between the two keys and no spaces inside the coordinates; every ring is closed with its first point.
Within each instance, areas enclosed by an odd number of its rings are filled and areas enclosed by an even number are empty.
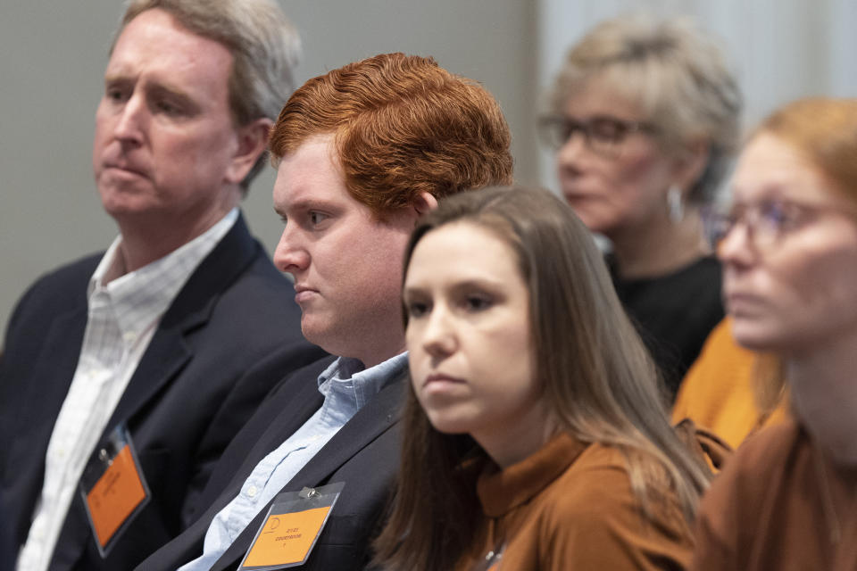
{"type": "Polygon", "coordinates": [[[241,486],[235,499],[220,510],[205,533],[203,555],[179,571],[207,571],[313,456],[370,399],[407,366],[407,353],[363,369],[359,360],[339,357],[319,376],[324,402],[315,414],[270,452],[241,486]]]}

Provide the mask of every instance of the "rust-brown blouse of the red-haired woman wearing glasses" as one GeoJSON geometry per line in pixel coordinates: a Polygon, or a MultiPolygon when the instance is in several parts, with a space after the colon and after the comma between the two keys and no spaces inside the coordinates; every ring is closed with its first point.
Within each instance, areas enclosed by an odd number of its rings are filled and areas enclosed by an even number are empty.
{"type": "Polygon", "coordinates": [[[698,571],[857,569],[857,469],[838,468],[795,420],[748,439],[703,497],[698,571]]]}

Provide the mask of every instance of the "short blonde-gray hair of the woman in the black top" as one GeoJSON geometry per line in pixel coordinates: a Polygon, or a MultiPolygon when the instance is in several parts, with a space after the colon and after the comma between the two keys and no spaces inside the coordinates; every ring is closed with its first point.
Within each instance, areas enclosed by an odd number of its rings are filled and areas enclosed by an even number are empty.
{"type": "Polygon", "coordinates": [[[572,46],[549,96],[553,112],[598,76],[636,103],[668,150],[709,145],[703,175],[688,193],[711,201],[740,137],[742,97],[717,43],[688,18],[652,21],[625,16],[603,21],[572,46]]]}

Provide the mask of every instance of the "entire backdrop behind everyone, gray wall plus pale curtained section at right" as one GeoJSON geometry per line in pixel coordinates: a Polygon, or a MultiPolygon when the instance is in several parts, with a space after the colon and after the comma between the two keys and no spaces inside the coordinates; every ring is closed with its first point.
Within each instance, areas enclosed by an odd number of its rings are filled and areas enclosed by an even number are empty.
{"type": "MultiPolygon", "coordinates": [[[[515,178],[555,187],[540,149],[541,94],[565,50],[624,12],[687,14],[720,37],[745,91],[746,124],[802,95],[857,96],[854,0],[279,0],[301,31],[303,82],[382,52],[432,55],[477,79],[512,128],[515,178]]],[[[4,0],[0,5],[0,339],[37,276],[103,250],[116,234],[91,173],[93,118],[120,0],[4,0]]],[[[273,170],[244,210],[269,249],[273,170]]]]}

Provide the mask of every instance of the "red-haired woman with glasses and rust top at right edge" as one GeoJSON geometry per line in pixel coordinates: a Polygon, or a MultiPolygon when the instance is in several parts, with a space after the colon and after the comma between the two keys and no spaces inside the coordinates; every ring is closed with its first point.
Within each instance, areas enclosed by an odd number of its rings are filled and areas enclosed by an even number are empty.
{"type": "Polygon", "coordinates": [[[732,334],[773,352],[792,419],[703,499],[696,569],[857,569],[857,99],[786,105],[738,162],[718,255],[732,334]]]}

